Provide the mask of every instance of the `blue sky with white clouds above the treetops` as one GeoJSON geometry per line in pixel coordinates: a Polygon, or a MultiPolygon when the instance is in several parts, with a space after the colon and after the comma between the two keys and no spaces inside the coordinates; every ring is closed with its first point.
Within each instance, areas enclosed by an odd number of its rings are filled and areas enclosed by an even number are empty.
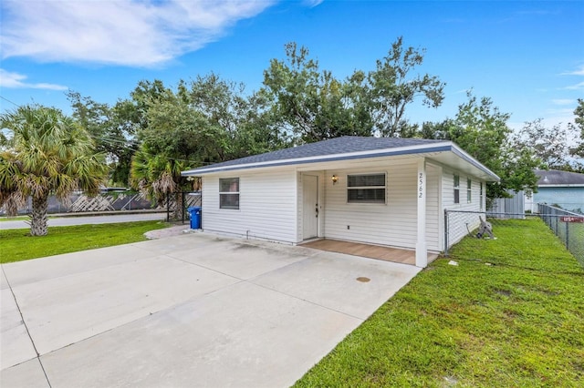
{"type": "Polygon", "coordinates": [[[2,0],[0,111],[31,102],[70,113],[65,91],[114,104],[142,80],[176,86],[213,71],[261,87],[284,45],[307,46],[339,78],[372,70],[398,36],[425,48],[416,71],[446,83],[454,117],[465,91],[491,97],[509,125],[573,120],[584,98],[584,1],[2,0]]]}

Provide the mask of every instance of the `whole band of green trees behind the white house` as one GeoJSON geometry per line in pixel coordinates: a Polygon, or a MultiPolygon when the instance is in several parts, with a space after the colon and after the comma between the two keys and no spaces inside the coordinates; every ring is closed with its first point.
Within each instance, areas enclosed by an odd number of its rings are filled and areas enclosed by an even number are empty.
{"type": "Polygon", "coordinates": [[[372,69],[340,78],[290,42],[255,92],[210,73],[174,87],[142,80],[111,107],[73,91],[68,97],[73,118],[108,157],[110,184],[130,183],[158,200],[190,187],[183,169],[346,135],[452,140],[501,177],[488,185],[488,198],[536,189],[533,168],[581,170],[582,99],[568,129],[536,119],[514,132],[510,114],[470,92],[455,117],[412,122],[412,105],[436,108],[444,99],[443,81],[420,72],[425,54],[400,36],[372,69]],[[570,140],[577,132],[580,140],[570,140]]]}

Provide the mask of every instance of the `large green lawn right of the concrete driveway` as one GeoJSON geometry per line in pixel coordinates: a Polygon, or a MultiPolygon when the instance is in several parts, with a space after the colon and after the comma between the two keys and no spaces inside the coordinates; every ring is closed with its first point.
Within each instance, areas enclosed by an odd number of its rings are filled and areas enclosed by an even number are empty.
{"type": "Polygon", "coordinates": [[[495,235],[434,261],[296,386],[584,386],[584,270],[540,220],[495,235]]]}

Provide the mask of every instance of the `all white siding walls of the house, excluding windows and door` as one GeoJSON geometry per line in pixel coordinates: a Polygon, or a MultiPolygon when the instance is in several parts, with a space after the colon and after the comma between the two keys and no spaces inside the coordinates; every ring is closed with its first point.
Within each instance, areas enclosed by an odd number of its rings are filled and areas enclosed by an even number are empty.
{"type": "MultiPolygon", "coordinates": [[[[249,170],[206,176],[203,178],[203,230],[254,239],[301,242],[302,175],[308,174],[318,176],[318,237],[415,249],[417,160],[409,158],[367,168],[304,172],[296,168],[277,168],[262,173],[249,170]],[[347,175],[370,173],[387,174],[386,203],[348,203],[347,175]],[[330,179],[333,174],[339,177],[334,185],[330,179]],[[219,178],[231,177],[240,179],[240,209],[219,209],[219,178]]],[[[454,169],[429,162],[426,174],[426,246],[430,251],[441,251],[444,249],[443,210],[480,211],[480,181],[470,177],[472,201],[467,203],[466,179],[469,177],[458,173],[461,203],[454,204],[454,169]]],[[[486,194],[485,186],[484,191],[486,194]]],[[[478,217],[459,214],[456,222],[458,228],[454,233],[451,230],[448,238],[450,245],[464,237],[466,222],[469,228],[475,228],[478,217]],[[462,224],[461,217],[464,218],[462,224]]]]}

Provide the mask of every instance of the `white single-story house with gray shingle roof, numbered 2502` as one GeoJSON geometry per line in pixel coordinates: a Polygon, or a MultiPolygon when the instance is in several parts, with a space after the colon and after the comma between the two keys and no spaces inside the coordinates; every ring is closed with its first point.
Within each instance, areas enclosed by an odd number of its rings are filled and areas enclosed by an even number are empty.
{"type": "MultiPolygon", "coordinates": [[[[183,171],[203,179],[203,230],[290,244],[327,238],[444,250],[443,210],[484,211],[498,177],[450,141],[342,137],[183,171]]],[[[476,214],[468,220],[478,224],[476,214]]],[[[451,237],[449,244],[466,234],[451,237]]]]}

